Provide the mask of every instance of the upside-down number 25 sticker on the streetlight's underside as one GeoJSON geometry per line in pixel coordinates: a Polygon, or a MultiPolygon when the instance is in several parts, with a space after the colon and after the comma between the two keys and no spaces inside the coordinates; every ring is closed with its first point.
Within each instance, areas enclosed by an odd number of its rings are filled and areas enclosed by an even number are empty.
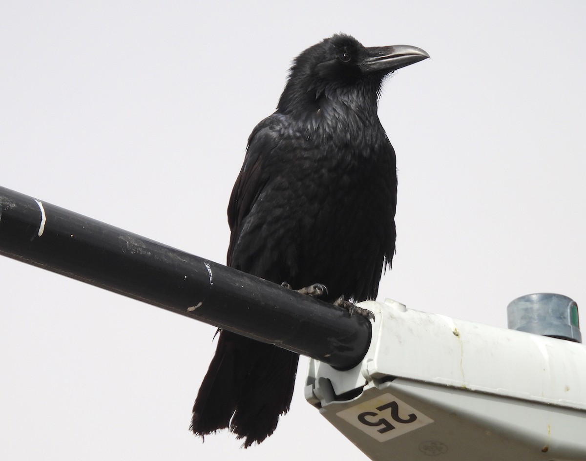
{"type": "Polygon", "coordinates": [[[379,442],[386,442],[434,422],[391,394],[379,395],[346,408],[338,416],[379,442]]]}

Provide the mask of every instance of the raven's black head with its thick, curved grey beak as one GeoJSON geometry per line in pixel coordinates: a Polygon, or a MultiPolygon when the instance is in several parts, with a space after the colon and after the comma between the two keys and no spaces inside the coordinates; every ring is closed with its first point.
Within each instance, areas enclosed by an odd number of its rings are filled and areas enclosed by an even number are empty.
{"type": "Polygon", "coordinates": [[[321,98],[328,95],[354,95],[372,104],[385,76],[428,57],[415,46],[365,47],[349,35],[333,35],[295,58],[277,110],[284,114],[317,110],[321,98]]]}

